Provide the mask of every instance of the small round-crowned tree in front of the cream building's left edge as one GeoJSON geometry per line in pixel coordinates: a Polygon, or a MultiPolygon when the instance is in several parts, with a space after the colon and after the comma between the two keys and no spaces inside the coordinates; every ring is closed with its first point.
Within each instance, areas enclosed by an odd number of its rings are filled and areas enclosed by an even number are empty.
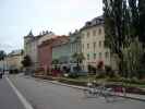
{"type": "Polygon", "coordinates": [[[85,57],[84,57],[84,55],[81,52],[81,53],[74,53],[73,56],[72,56],[72,58],[76,61],[76,63],[77,63],[77,68],[80,68],[81,66],[81,63],[83,62],[83,60],[85,59],[85,57]]]}

